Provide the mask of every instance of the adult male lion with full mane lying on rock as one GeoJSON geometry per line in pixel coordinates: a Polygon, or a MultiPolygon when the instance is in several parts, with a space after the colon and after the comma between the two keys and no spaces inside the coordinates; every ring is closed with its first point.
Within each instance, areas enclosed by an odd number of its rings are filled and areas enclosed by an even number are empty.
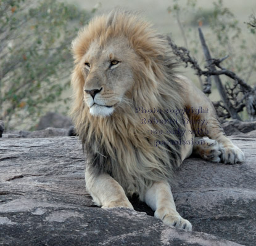
{"type": "Polygon", "coordinates": [[[212,103],[175,74],[167,41],[130,12],[94,18],[72,48],[72,116],[94,202],[133,208],[126,195],[137,193],[163,223],[192,230],[176,212],[173,171],[192,150],[214,162],[244,160],[223,135],[212,103]]]}

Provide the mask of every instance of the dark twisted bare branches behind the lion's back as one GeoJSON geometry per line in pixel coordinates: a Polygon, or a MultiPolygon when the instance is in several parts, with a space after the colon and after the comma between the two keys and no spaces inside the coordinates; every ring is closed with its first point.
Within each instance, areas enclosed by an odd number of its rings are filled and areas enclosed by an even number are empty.
{"type": "MultiPolygon", "coordinates": [[[[199,33],[201,33],[200,38],[204,39],[202,31],[199,30],[199,33]]],[[[218,91],[223,99],[221,103],[213,103],[219,117],[222,119],[227,119],[232,116],[233,119],[240,119],[237,113],[241,112],[246,106],[250,120],[252,121],[256,119],[256,88],[253,89],[249,84],[246,83],[246,81],[244,81],[244,79],[237,76],[236,73],[221,66],[221,63],[226,60],[228,56],[220,59],[211,58],[209,50],[207,51],[208,47],[205,40],[201,40],[204,47],[204,52],[207,55],[206,60],[208,63],[207,66],[205,66],[205,69],[201,69],[197,60],[190,55],[188,49],[176,46],[176,44],[168,36],[167,41],[173,50],[173,54],[179,57],[180,60],[186,64],[186,67],[191,65],[191,68],[196,71],[196,74],[199,77],[202,75],[206,77],[203,89],[204,93],[211,93],[211,76],[215,78],[215,82],[217,81],[218,85],[218,91]],[[233,79],[233,86],[225,85],[225,87],[223,87],[220,78],[218,77],[220,75],[225,75],[233,79]]]]}

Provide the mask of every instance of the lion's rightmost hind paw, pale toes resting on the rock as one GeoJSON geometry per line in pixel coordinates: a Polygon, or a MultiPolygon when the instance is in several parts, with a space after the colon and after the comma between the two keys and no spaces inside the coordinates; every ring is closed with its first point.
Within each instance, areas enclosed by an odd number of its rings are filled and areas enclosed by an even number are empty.
{"type": "Polygon", "coordinates": [[[236,164],[244,161],[244,153],[237,146],[221,148],[221,161],[229,164],[236,164]]]}

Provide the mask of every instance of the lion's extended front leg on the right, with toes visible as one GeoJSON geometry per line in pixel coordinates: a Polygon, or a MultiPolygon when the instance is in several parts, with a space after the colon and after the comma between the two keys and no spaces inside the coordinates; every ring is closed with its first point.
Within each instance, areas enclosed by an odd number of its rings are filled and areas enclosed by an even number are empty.
{"type": "Polygon", "coordinates": [[[146,191],[145,202],[155,211],[155,217],[162,220],[163,223],[192,231],[191,223],[184,220],[176,211],[171,188],[167,182],[155,182],[146,191]]]}

